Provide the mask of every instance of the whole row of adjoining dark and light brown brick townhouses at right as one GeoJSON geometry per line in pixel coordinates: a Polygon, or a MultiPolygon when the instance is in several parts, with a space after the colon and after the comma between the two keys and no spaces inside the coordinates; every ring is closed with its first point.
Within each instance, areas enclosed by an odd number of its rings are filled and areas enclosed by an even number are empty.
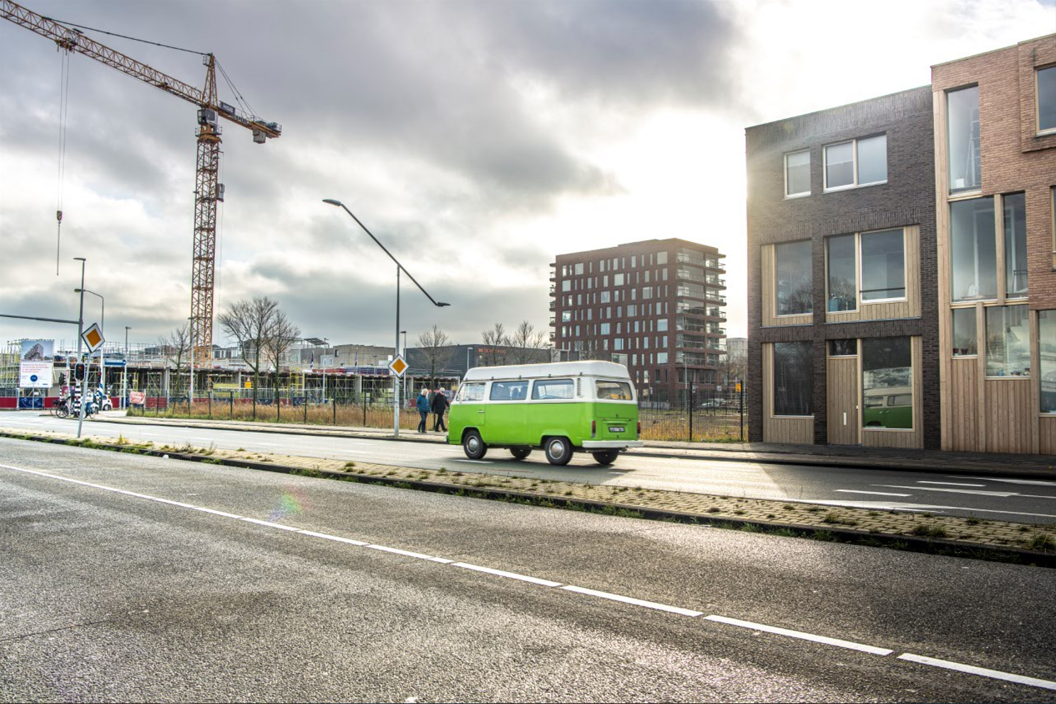
{"type": "Polygon", "coordinates": [[[1056,35],[931,71],[747,130],[752,440],[1056,454],[1056,35]]]}

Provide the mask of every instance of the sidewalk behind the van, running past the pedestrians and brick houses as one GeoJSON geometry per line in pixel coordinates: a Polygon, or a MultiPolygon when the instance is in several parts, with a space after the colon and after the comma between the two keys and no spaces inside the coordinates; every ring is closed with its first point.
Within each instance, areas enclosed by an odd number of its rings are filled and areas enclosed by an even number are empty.
{"type": "MultiPolygon", "coordinates": [[[[399,438],[394,438],[391,429],[150,417],[129,418],[116,415],[117,413],[99,416],[92,422],[208,427],[282,435],[369,438],[397,442],[447,442],[447,436],[441,433],[419,435],[414,431],[400,431],[399,438]]],[[[788,445],[765,442],[724,443],[662,440],[646,440],[644,448],[631,450],[628,453],[646,457],[692,458],[724,462],[909,470],[1056,480],[1056,456],[1053,455],[1005,455],[939,450],[862,448],[857,445],[788,445]]]]}

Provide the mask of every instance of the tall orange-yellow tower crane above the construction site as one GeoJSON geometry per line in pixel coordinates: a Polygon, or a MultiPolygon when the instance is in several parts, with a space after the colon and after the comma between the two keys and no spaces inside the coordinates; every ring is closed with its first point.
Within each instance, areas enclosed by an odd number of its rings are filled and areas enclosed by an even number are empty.
{"type": "MultiPolygon", "coordinates": [[[[212,302],[216,269],[216,203],[224,199],[220,174],[218,117],[250,130],[253,141],[264,144],[282,134],[282,127],[239,110],[216,98],[216,59],[204,55],[205,88],[197,89],[150,68],[142,61],[86,37],[79,30],[59,24],[42,15],[0,0],[0,16],[54,41],[60,50],[76,52],[145,83],[197,106],[197,175],[194,180],[194,247],[191,260],[191,319],[194,356],[207,361],[212,355],[212,302]]],[[[60,216],[61,217],[61,216],[60,216]]]]}

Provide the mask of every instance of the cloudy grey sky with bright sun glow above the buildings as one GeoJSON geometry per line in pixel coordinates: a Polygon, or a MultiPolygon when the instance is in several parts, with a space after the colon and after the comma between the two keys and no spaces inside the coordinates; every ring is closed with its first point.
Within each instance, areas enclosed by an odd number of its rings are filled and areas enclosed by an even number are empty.
{"type": "MultiPolygon", "coordinates": [[[[932,63],[1056,32],[1054,0],[1001,2],[44,2],[55,20],[212,52],[283,135],[225,123],[215,309],[277,298],[305,336],[391,345],[395,266],[413,344],[438,325],[547,329],[561,252],[678,236],[728,254],[746,335],[743,130],[925,84],[932,63]]],[[[201,85],[200,56],[93,39],[201,85]]],[[[192,104],[70,60],[55,272],[62,59],[0,21],[0,312],[153,342],[190,308],[192,104]],[[97,320],[98,299],[86,300],[97,320]]],[[[220,97],[234,102],[220,81],[220,97]]],[[[72,341],[0,318],[0,342],[72,341]]],[[[216,341],[223,334],[216,330],[216,341]]]]}

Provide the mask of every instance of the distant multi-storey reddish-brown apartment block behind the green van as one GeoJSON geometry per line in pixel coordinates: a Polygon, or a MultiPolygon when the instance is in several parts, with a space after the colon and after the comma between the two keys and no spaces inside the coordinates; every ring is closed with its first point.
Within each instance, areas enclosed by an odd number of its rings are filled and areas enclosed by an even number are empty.
{"type": "Polygon", "coordinates": [[[550,340],[580,359],[626,365],[642,402],[715,391],[725,355],[725,255],[686,240],[559,254],[550,340]]]}

